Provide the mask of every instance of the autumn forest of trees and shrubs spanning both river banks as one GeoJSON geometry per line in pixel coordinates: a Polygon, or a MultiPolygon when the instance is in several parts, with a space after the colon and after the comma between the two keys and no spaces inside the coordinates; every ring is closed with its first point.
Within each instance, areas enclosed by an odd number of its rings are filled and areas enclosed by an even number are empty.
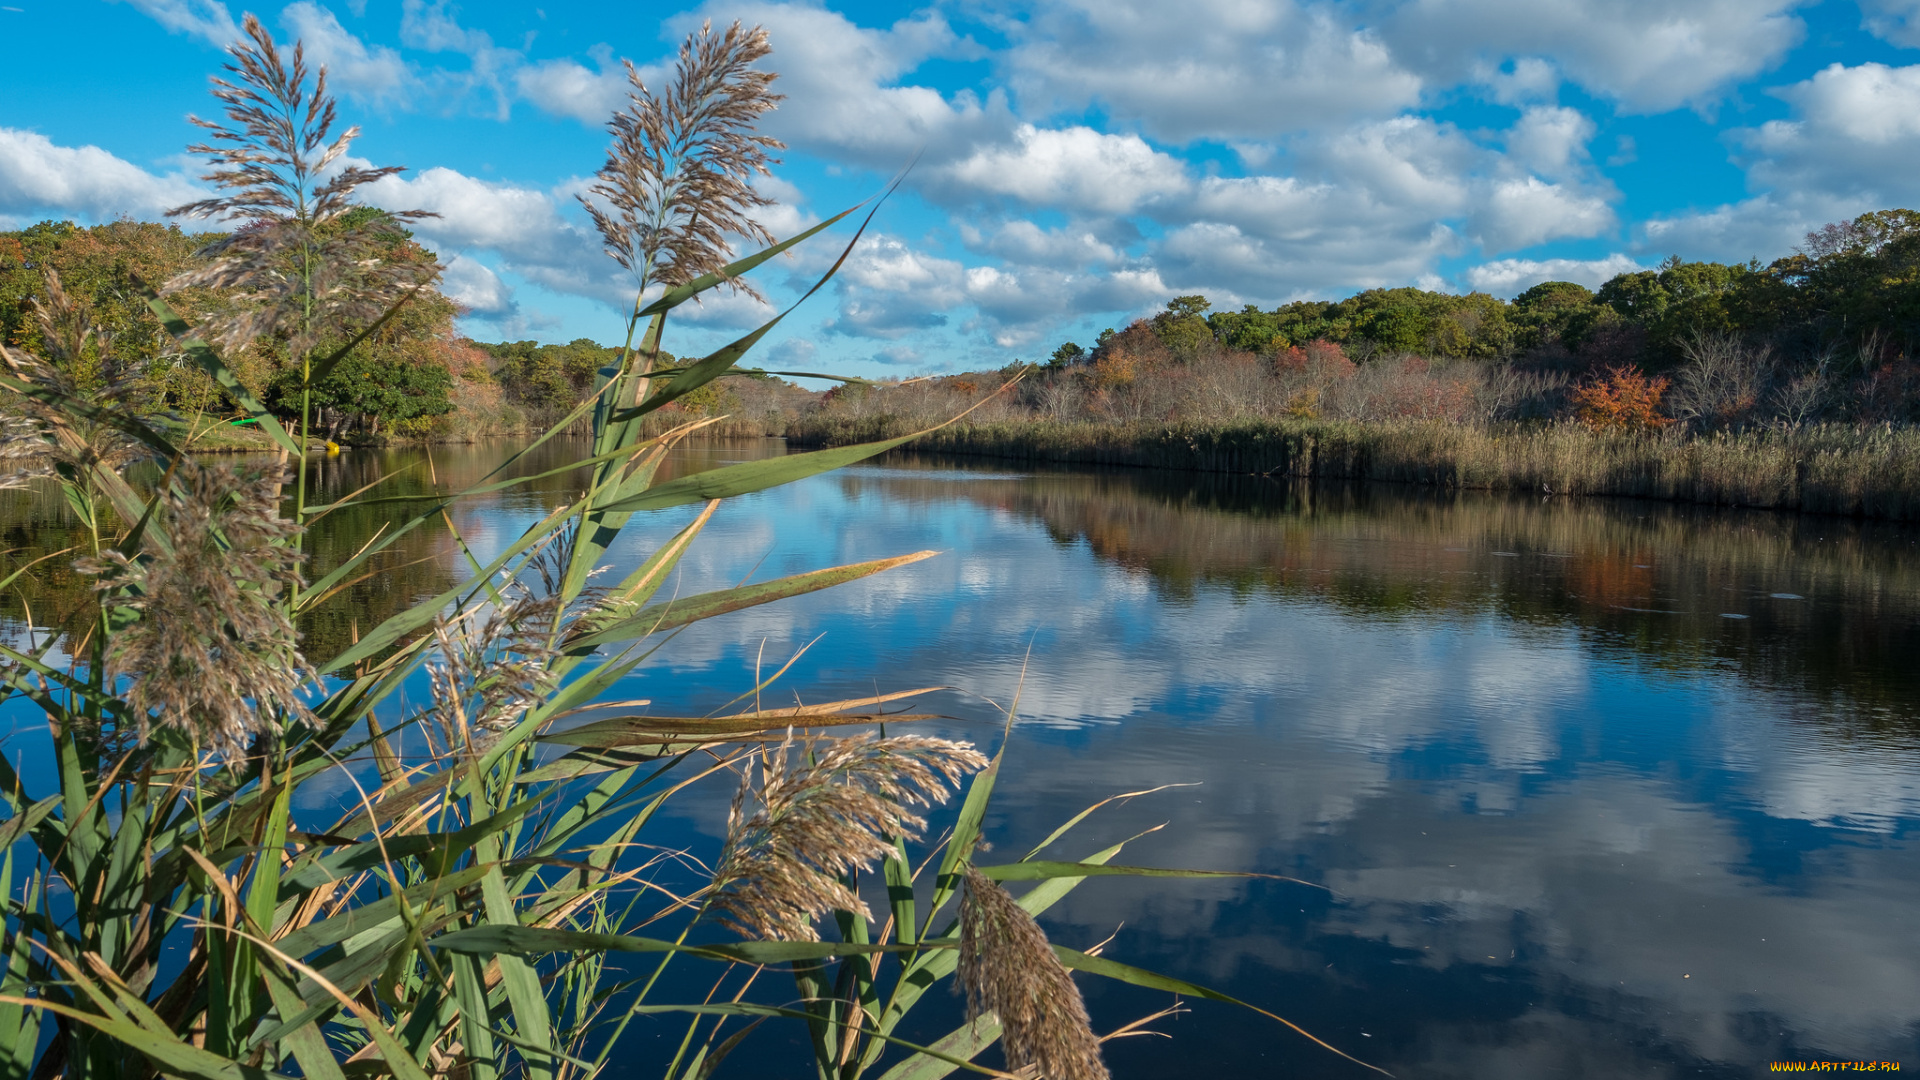
{"type": "MultiPolygon", "coordinates": [[[[52,267],[69,300],[100,327],[67,361],[77,386],[127,384],[146,411],[211,425],[232,404],[169,352],[171,338],[138,282],[182,273],[217,238],[144,221],[42,221],[0,233],[0,340],[40,350],[33,304],[46,288],[42,267],[52,267]]],[[[394,254],[420,267],[438,263],[399,227],[394,254]]],[[[180,294],[190,319],[198,307],[230,300],[209,288],[180,294]]],[[[455,331],[457,313],[453,300],[426,288],[369,334],[309,390],[315,434],[378,442],[538,430],[589,394],[616,354],[588,338],[470,342],[455,331]]],[[[340,332],[363,329],[349,323],[340,332]]],[[[1670,258],[1597,292],[1549,281],[1505,302],[1484,292],[1371,288],[1238,311],[1177,296],[1087,346],[1058,344],[1039,371],[972,419],[1571,419],[1690,432],[1908,425],[1920,417],[1916,334],[1920,213],[1882,209],[1826,225],[1768,265],[1670,258]]],[[[236,356],[234,369],[248,390],[292,417],[298,379],[286,356],[284,342],[267,334],[236,356]]],[[[795,427],[818,440],[822,425],[945,419],[998,382],[1000,371],[981,371],[808,392],[739,375],[703,386],[674,411],[726,417],[722,434],[795,427]]]]}

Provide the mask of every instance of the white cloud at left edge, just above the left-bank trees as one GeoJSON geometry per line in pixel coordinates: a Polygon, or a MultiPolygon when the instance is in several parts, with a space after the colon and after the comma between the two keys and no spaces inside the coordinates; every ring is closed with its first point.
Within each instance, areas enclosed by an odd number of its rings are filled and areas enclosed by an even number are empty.
{"type": "Polygon", "coordinates": [[[109,221],[159,217],[204,196],[186,177],[156,177],[98,146],[56,146],[35,131],[0,127],[0,211],[109,221]]]}

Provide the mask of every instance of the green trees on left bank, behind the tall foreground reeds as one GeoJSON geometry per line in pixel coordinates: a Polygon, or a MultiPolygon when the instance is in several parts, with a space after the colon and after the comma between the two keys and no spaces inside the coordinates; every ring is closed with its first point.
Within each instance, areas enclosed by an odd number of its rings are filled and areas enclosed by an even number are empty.
{"type": "MultiPolygon", "coordinates": [[[[376,209],[355,209],[359,221],[376,209]]],[[[351,225],[348,221],[346,225],[351,225]]],[[[382,258],[436,265],[438,256],[411,233],[382,258]]],[[[225,392],[186,361],[173,338],[146,307],[142,282],[157,286],[194,265],[196,252],[223,238],[221,233],[188,233],[154,221],[113,221],[81,227],[40,221],[0,233],[0,340],[44,356],[44,329],[35,315],[46,304],[58,275],[79,309],[98,327],[83,356],[67,359],[63,375],[83,392],[131,380],[148,411],[200,417],[227,415],[225,392]]],[[[436,279],[438,284],[438,279],[436,279]]],[[[234,296],[217,290],[175,294],[175,307],[190,321],[215,306],[230,307],[234,296]]],[[[422,288],[392,319],[374,329],[323,380],[313,384],[315,434],[328,440],[382,434],[434,436],[449,432],[540,430],[593,392],[603,367],[620,350],[589,338],[566,344],[534,340],[470,342],[453,319],[459,306],[438,288],[422,288]]],[[[346,323],[334,338],[346,344],[363,325],[346,323]]],[[[276,415],[300,415],[300,373],[286,342],[263,336],[230,361],[240,382],[276,415]]],[[[58,350],[56,350],[58,352],[58,350]]],[[[670,354],[660,363],[676,363],[670,354]]],[[[806,394],[768,379],[728,379],[707,384],[674,404],[674,415],[753,413],[751,425],[778,430],[806,394]]],[[[670,417],[668,417],[670,419],[670,417]]],[[[745,430],[745,429],[741,429],[745,430]]],[[[755,430],[755,434],[760,434],[755,430]]]]}

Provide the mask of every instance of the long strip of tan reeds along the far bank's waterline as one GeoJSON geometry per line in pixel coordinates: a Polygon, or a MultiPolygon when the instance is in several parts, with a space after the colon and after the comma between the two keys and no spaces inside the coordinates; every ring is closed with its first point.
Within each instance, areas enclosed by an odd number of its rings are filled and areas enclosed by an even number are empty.
{"type": "MultiPolygon", "coordinates": [[[[801,419],[791,446],[845,446],[912,430],[893,417],[801,419]]],[[[1920,430],[1805,427],[1682,436],[1580,425],[1471,427],[1446,421],[1256,421],[954,425],[920,452],[1129,465],[1190,473],[1390,480],[1442,488],[1632,496],[1709,505],[1920,519],[1920,430]]]]}

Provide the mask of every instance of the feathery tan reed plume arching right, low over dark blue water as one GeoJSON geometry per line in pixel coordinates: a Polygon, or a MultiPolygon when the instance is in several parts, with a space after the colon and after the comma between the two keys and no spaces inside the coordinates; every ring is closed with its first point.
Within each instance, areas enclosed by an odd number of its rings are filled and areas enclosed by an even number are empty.
{"type": "Polygon", "coordinates": [[[841,880],[854,867],[895,857],[893,838],[927,826],[908,807],[947,801],[947,784],[987,767],[966,742],[874,734],[795,740],[762,755],[762,782],[741,776],[728,813],[726,851],[708,907],[753,938],[818,942],[814,919],[866,903],[841,880]],[[749,799],[760,805],[747,813],[749,799]]]}

